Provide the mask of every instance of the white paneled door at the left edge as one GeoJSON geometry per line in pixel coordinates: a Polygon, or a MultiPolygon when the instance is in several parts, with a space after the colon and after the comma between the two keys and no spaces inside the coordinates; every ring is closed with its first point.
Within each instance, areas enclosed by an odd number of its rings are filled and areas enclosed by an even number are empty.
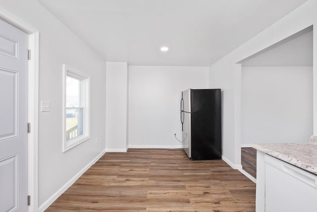
{"type": "Polygon", "coordinates": [[[0,20],[0,211],[27,212],[28,35],[0,20]]]}

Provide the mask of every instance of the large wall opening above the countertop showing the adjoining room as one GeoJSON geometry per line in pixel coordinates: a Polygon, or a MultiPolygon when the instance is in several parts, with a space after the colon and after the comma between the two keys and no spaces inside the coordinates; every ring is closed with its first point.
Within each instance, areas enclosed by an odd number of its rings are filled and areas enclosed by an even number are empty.
{"type": "Polygon", "coordinates": [[[253,143],[301,143],[313,135],[313,26],[241,64],[241,164],[256,178],[253,143]]]}

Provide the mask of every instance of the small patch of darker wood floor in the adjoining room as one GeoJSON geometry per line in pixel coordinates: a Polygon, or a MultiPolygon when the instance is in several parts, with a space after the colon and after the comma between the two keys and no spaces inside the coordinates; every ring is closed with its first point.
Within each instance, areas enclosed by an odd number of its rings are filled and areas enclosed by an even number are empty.
{"type": "Polygon", "coordinates": [[[243,170],[257,178],[257,150],[255,148],[241,148],[241,165],[243,170]]]}

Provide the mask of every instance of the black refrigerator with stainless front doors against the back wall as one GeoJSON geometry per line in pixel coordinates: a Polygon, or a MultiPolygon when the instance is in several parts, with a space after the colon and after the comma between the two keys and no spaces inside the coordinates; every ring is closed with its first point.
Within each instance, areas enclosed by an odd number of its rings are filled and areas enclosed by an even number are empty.
{"type": "Polygon", "coordinates": [[[188,157],[221,159],[221,90],[185,90],[180,107],[183,149],[188,157]]]}

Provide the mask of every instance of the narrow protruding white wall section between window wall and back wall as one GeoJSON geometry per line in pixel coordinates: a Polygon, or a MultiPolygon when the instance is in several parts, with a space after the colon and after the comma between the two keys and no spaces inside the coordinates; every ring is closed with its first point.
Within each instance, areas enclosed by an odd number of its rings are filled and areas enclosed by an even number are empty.
{"type": "Polygon", "coordinates": [[[127,63],[106,63],[106,151],[127,149],[127,63]]]}

